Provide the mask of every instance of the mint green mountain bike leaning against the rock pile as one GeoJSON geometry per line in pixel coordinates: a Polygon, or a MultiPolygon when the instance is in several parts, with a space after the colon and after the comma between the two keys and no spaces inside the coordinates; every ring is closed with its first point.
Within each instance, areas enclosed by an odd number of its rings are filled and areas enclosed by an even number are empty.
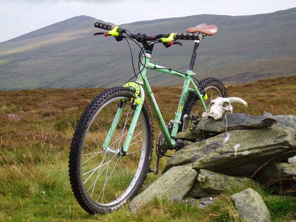
{"type": "Polygon", "coordinates": [[[131,39],[143,47],[139,45],[138,74],[133,64],[137,80],[112,87],[98,95],[82,114],[74,132],[69,155],[70,182],[77,202],[90,214],[118,209],[137,194],[148,172],[158,173],[159,159],[166,155],[167,149],[175,148],[177,133],[198,121],[196,112],[200,111],[198,106],[195,107],[197,100],[201,102],[203,111],[207,111],[208,95],[211,94],[211,99],[213,95],[227,96],[224,85],[217,78],[209,77],[196,83],[193,81],[193,78],[196,79],[192,70],[199,42],[205,36],[217,32],[215,25],[200,24],[187,29],[187,34],[159,34],[152,37],[135,35],[118,26],[100,22],[96,22],[95,27],[109,32],[94,35],[113,36],[117,41],[131,39]],[[186,73],[150,63],[154,44],[161,42],[165,47],[182,45],[178,39],[195,41],[186,73]],[[184,78],[176,117],[168,125],[163,120],[148,83],[147,70],[184,78]],[[144,102],[145,95],[161,129],[154,170],[149,167],[154,132],[151,114],[144,102]]]}

